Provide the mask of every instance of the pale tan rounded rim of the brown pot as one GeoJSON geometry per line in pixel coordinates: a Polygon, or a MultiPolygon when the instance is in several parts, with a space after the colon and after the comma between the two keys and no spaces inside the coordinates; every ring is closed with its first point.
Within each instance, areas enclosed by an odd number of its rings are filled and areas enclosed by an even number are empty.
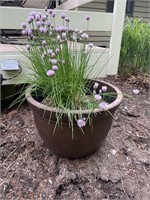
{"type": "MultiPolygon", "coordinates": [[[[102,111],[108,111],[108,110],[113,109],[114,107],[120,105],[120,103],[121,103],[121,101],[122,101],[122,99],[123,99],[123,94],[122,94],[122,92],[121,92],[120,89],[118,89],[118,88],[117,88],[116,86],[114,86],[113,84],[108,83],[108,82],[103,81],[103,80],[91,79],[91,81],[101,82],[101,83],[103,83],[103,84],[105,84],[105,85],[107,85],[107,86],[110,86],[110,87],[112,87],[112,88],[115,90],[115,92],[117,93],[116,99],[115,99],[112,103],[108,104],[108,106],[107,106],[106,109],[96,108],[96,109],[92,110],[92,113],[97,113],[97,112],[102,112],[102,111]]],[[[25,97],[26,97],[27,101],[28,101],[30,104],[32,104],[32,105],[34,105],[34,106],[36,106],[36,107],[38,107],[38,108],[40,108],[40,109],[43,109],[43,110],[45,110],[45,111],[51,111],[51,112],[55,112],[55,113],[58,113],[58,112],[59,112],[59,113],[64,113],[64,114],[67,113],[67,112],[65,112],[63,109],[58,109],[58,108],[55,108],[55,107],[46,106],[46,105],[44,105],[44,104],[42,104],[42,103],[36,101],[36,100],[31,96],[31,88],[32,88],[32,87],[33,87],[33,86],[30,85],[30,86],[25,90],[25,97]]],[[[86,110],[70,110],[70,112],[73,113],[73,114],[87,114],[87,113],[90,113],[91,110],[87,110],[87,109],[86,109],[86,110]]]]}

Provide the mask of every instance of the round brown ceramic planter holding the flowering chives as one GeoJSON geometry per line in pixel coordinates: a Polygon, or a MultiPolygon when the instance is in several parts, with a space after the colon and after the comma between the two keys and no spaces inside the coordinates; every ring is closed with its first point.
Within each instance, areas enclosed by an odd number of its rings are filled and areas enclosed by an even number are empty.
{"type": "MultiPolygon", "coordinates": [[[[41,138],[49,149],[60,157],[70,159],[85,157],[95,152],[105,140],[113,121],[112,115],[114,115],[115,110],[122,101],[122,93],[117,87],[109,83],[104,81],[98,82],[100,86],[107,85],[108,91],[115,92],[116,97],[114,97],[112,102],[108,105],[109,112],[100,109],[94,111],[92,114],[92,128],[89,125],[83,127],[84,134],[75,122],[74,139],[72,139],[72,130],[68,127],[67,116],[62,110],[47,107],[37,102],[31,94],[26,94],[41,138]],[[55,133],[53,133],[56,122],[56,112],[63,112],[62,127],[57,127],[55,133]],[[51,121],[49,122],[50,116],[51,121]]],[[[77,110],[72,112],[78,114],[77,110]]],[[[88,110],[83,110],[83,116],[86,117],[88,112],[88,110]]]]}

